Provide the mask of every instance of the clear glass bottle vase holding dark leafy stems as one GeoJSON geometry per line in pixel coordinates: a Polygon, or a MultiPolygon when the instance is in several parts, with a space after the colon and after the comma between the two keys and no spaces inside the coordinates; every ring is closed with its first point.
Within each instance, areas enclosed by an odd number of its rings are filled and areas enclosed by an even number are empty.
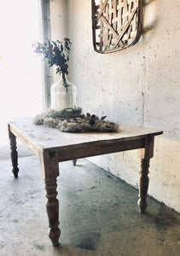
{"type": "Polygon", "coordinates": [[[64,108],[76,108],[76,86],[67,80],[66,74],[50,88],[51,109],[61,111],[64,108]]]}

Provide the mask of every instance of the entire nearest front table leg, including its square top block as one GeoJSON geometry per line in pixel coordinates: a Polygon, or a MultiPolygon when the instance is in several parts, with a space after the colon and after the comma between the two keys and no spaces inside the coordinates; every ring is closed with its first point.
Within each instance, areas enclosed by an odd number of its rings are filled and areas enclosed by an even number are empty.
{"type": "Polygon", "coordinates": [[[55,153],[43,153],[40,156],[41,170],[44,177],[46,197],[46,211],[49,219],[49,238],[54,246],[58,246],[61,230],[59,229],[59,201],[57,196],[56,177],[59,176],[58,161],[55,153]]]}

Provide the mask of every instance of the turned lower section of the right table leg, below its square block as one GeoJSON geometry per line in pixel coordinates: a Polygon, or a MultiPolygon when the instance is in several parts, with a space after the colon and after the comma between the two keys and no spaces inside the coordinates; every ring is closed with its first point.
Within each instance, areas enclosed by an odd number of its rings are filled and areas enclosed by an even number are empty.
{"type": "Polygon", "coordinates": [[[148,195],[148,168],[149,168],[149,160],[142,159],[141,160],[141,171],[139,177],[139,200],[137,201],[137,205],[139,207],[139,211],[144,213],[147,203],[147,195],[148,195]]]}

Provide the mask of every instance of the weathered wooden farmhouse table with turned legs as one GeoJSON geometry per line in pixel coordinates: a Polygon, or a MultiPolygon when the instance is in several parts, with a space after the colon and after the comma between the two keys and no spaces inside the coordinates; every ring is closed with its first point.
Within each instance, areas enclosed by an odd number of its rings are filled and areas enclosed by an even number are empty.
{"type": "Polygon", "coordinates": [[[157,131],[142,126],[119,124],[118,133],[66,133],[42,125],[34,125],[32,118],[12,119],[9,124],[9,140],[13,173],[18,177],[18,152],[16,137],[25,143],[40,159],[41,172],[46,190],[46,210],[49,218],[49,238],[58,245],[61,235],[59,229],[59,201],[57,200],[56,178],[59,176],[58,163],[99,155],[137,149],[141,159],[139,178],[140,212],[145,212],[148,193],[149,160],[154,156],[154,136],[157,131]]]}

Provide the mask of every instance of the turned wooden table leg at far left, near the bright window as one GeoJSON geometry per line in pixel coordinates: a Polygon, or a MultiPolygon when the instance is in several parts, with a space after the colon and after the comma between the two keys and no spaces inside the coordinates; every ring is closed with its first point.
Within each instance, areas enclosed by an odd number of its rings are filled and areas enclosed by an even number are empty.
{"type": "Polygon", "coordinates": [[[18,152],[17,152],[17,146],[16,146],[16,137],[15,135],[10,131],[9,129],[9,142],[10,142],[10,156],[12,161],[12,172],[14,173],[15,177],[18,177],[18,152]]]}

